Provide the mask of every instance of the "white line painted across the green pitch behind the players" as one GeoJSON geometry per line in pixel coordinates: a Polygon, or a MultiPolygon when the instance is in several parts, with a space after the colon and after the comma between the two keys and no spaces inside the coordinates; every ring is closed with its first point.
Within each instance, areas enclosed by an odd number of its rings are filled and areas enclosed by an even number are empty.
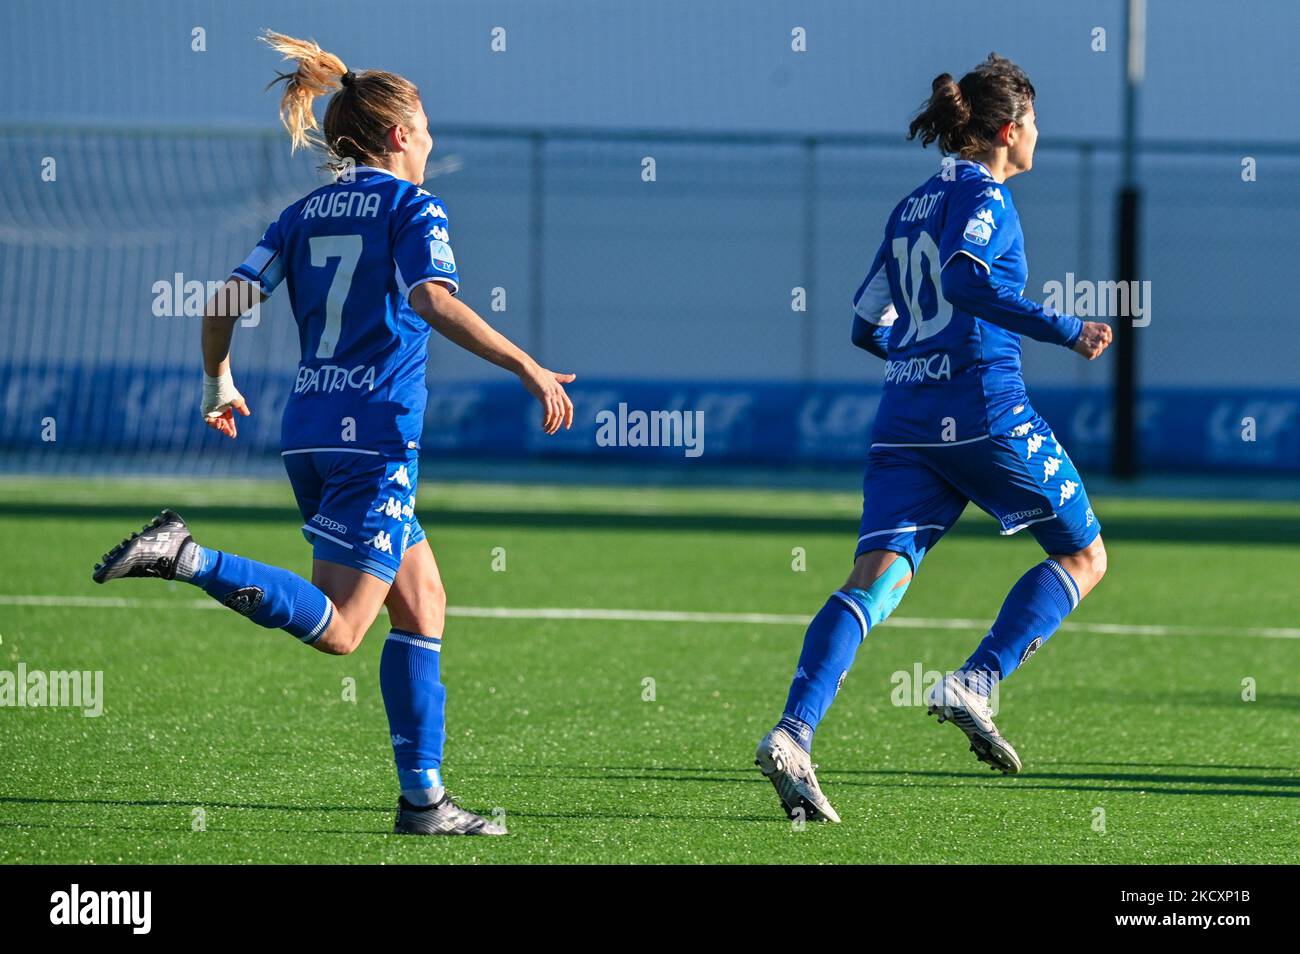
{"type": "MultiPolygon", "coordinates": [[[[40,597],[0,594],[0,606],[47,606],[77,610],[225,610],[213,599],[126,599],[121,597],[40,597]]],[[[451,606],[447,616],[488,620],[584,620],[607,623],[714,623],[806,626],[811,616],[745,612],[684,612],[677,610],[589,610],[564,607],[515,608],[451,606]]],[[[898,629],[988,630],[988,620],[890,616],[884,625],[898,629]]],[[[1066,623],[1062,629],[1104,636],[1239,636],[1262,639],[1300,639],[1300,629],[1286,626],[1165,626],[1127,623],[1066,623]]]]}

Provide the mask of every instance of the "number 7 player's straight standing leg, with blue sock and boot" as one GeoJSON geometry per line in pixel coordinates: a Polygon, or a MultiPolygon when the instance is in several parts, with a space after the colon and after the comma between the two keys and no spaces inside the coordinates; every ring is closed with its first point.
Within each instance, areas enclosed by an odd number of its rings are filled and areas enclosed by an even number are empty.
{"type": "Polygon", "coordinates": [[[442,786],[447,594],[426,539],[403,554],[385,603],[393,629],[384,645],[380,682],[402,785],[394,833],[506,834],[504,825],[465,811],[442,786]]]}

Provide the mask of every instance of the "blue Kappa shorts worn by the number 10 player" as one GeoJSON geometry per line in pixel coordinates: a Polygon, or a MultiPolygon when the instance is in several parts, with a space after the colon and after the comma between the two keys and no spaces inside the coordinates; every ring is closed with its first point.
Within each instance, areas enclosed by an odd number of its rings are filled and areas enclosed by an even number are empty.
{"type": "Polygon", "coordinates": [[[1083,550],[1101,532],[1079,471],[1037,415],[1009,434],[968,442],[874,443],[862,496],[854,556],[892,550],[913,572],[971,500],[1004,535],[1028,530],[1048,554],[1083,550]]]}

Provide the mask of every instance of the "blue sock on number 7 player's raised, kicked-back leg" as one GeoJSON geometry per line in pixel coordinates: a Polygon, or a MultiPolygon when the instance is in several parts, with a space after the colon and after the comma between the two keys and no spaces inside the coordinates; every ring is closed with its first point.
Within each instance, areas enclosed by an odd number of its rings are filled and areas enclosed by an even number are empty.
{"type": "Polygon", "coordinates": [[[259,626],[283,629],[313,643],[329,629],[334,604],[296,573],[192,541],[183,550],[177,580],[194,584],[209,597],[259,626]]]}

